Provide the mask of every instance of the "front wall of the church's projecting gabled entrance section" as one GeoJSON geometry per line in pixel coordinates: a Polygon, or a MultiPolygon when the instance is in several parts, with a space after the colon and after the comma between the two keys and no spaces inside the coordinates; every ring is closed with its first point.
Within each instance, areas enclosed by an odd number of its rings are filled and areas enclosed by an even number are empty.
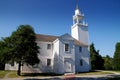
{"type": "Polygon", "coordinates": [[[60,60],[64,73],[66,73],[65,63],[68,62],[71,65],[71,73],[75,73],[75,49],[74,39],[65,34],[60,38],[60,60]],[[65,51],[65,44],[69,44],[69,50],[65,51]]]}

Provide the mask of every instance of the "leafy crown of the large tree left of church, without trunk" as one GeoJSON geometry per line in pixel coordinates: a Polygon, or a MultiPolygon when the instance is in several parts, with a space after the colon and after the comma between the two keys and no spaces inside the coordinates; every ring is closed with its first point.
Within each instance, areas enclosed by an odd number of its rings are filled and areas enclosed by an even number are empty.
{"type": "Polygon", "coordinates": [[[15,61],[26,62],[34,65],[39,62],[37,58],[38,46],[35,42],[35,33],[31,26],[21,25],[17,31],[12,33],[12,42],[14,45],[15,61]]]}

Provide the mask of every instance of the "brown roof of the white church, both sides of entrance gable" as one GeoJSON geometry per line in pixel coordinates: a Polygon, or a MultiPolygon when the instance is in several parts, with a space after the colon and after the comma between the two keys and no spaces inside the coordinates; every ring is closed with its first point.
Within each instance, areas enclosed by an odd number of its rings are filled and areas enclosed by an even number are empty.
{"type": "MultiPolygon", "coordinates": [[[[36,34],[36,40],[37,41],[43,41],[43,42],[53,42],[54,40],[56,40],[59,37],[60,36],[36,34]]],[[[86,44],[76,40],[75,38],[74,38],[74,41],[75,41],[75,45],[78,45],[78,46],[88,46],[88,45],[86,45],[86,44]]]]}

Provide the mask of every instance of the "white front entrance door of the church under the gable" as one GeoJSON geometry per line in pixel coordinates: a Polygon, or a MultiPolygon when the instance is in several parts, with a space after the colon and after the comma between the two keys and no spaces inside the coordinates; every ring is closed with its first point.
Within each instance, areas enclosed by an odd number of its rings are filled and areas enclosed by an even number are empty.
{"type": "Polygon", "coordinates": [[[71,58],[64,59],[64,68],[65,68],[66,73],[72,72],[72,59],[71,58]]]}

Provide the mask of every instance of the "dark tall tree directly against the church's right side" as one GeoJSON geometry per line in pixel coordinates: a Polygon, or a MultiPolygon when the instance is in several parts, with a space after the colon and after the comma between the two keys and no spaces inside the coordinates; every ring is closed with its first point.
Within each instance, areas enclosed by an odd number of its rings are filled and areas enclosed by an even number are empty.
{"type": "Polygon", "coordinates": [[[90,45],[90,62],[91,69],[104,69],[104,60],[102,56],[99,54],[99,51],[95,50],[94,44],[90,45]]]}

